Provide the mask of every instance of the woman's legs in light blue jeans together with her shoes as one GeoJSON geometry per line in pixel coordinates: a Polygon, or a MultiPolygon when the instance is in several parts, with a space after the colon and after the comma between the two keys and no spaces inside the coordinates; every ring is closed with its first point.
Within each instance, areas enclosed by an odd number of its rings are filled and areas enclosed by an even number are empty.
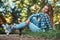
{"type": "MultiPolygon", "coordinates": [[[[11,28],[10,28],[10,27],[7,27],[7,26],[9,26],[9,25],[6,25],[6,26],[4,26],[4,27],[6,27],[5,30],[8,31],[8,32],[6,32],[6,34],[9,35],[9,33],[10,33],[13,29],[24,28],[26,25],[27,25],[26,22],[23,22],[23,23],[20,23],[20,24],[13,25],[11,28]]],[[[31,22],[28,24],[28,26],[29,26],[29,29],[30,29],[32,32],[40,32],[40,31],[41,31],[41,29],[40,29],[39,27],[37,27],[36,25],[34,25],[34,24],[31,23],[31,22]]]]}

